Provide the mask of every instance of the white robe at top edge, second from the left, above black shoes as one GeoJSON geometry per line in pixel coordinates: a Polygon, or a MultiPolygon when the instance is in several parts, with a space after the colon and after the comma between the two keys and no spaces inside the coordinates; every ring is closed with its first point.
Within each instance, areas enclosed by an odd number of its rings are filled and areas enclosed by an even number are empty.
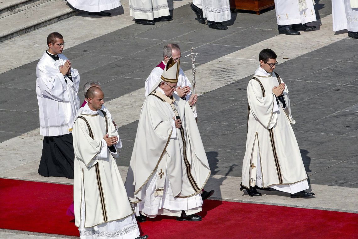
{"type": "Polygon", "coordinates": [[[135,19],[153,20],[169,16],[167,0],[129,0],[129,15],[135,19]]]}

